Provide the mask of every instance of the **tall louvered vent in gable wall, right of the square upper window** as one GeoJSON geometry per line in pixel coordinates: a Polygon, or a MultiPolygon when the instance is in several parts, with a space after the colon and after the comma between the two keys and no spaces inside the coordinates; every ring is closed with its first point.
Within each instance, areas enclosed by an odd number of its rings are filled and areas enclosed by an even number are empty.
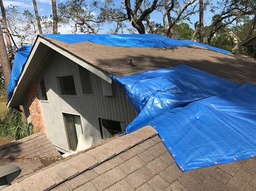
{"type": "Polygon", "coordinates": [[[93,94],[93,89],[91,87],[91,77],[90,72],[79,65],[79,74],[81,79],[81,85],[83,94],[93,94]]]}

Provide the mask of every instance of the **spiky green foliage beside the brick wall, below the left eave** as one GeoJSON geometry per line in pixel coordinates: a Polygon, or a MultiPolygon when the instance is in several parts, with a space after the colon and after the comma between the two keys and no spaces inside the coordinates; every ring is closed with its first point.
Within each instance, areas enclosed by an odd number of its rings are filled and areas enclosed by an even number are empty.
{"type": "Polygon", "coordinates": [[[33,134],[32,123],[24,124],[21,111],[9,109],[0,120],[0,136],[21,139],[33,134]]]}

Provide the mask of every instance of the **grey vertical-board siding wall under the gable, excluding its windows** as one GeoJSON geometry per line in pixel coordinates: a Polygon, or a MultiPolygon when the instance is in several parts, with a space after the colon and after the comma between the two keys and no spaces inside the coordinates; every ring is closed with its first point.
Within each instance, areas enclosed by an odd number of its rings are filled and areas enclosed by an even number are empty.
{"type": "MultiPolygon", "coordinates": [[[[40,101],[45,128],[50,141],[61,151],[69,151],[63,113],[81,117],[83,133],[93,136],[93,143],[102,140],[99,117],[121,121],[125,130],[136,113],[127,100],[124,90],[112,84],[113,96],[102,94],[102,79],[91,74],[93,95],[84,95],[81,89],[78,65],[59,53],[52,53],[46,60],[45,67],[37,77],[37,85],[44,79],[47,101],[40,101]],[[76,95],[60,95],[56,77],[73,75],[76,95]]],[[[39,94],[40,97],[40,94],[39,94]]]]}

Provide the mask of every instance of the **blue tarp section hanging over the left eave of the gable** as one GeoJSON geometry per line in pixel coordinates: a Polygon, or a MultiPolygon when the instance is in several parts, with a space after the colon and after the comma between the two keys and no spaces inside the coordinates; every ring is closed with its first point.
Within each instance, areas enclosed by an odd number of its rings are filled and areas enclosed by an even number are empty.
{"type": "Polygon", "coordinates": [[[11,97],[13,96],[13,91],[15,90],[18,80],[20,79],[20,75],[23,72],[26,59],[28,58],[28,55],[30,54],[31,49],[32,49],[32,45],[25,45],[19,48],[18,50],[16,50],[15,60],[13,62],[13,68],[11,69],[10,81],[7,88],[8,101],[10,101],[11,97]]]}

